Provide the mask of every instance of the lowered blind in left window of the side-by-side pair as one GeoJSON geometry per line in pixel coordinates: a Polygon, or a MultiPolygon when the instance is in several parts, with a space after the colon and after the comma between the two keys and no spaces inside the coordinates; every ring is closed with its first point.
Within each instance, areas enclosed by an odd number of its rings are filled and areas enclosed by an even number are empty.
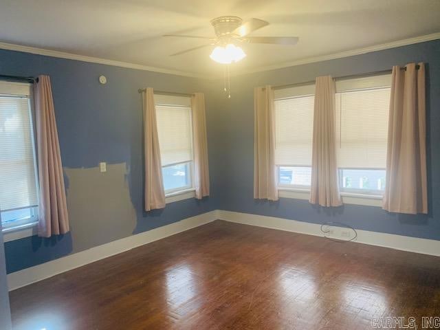
{"type": "Polygon", "coordinates": [[[275,163],[311,166],[314,96],[275,100],[275,163]]]}

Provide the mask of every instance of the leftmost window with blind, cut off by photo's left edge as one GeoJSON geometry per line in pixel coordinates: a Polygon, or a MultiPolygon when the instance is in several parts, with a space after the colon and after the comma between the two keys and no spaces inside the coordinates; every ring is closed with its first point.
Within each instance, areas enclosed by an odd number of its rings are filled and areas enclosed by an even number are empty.
{"type": "Polygon", "coordinates": [[[0,82],[0,215],[3,230],[35,223],[38,188],[29,84],[0,82]]]}

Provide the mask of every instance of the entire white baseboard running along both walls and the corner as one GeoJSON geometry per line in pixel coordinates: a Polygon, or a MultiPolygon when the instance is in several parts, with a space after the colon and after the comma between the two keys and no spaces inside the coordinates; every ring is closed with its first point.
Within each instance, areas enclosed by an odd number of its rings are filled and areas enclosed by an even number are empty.
{"type": "MultiPolygon", "coordinates": [[[[118,239],[117,241],[98,245],[89,250],[69,254],[47,263],[20,270],[19,272],[8,274],[9,290],[12,291],[19,287],[24,287],[25,285],[41,281],[45,278],[50,278],[57,274],[67,272],[68,270],[73,270],[76,267],[87,265],[88,263],[93,263],[94,261],[137,248],[146,243],[164,239],[165,237],[184,232],[185,230],[198,227],[199,225],[210,223],[216,219],[243,223],[245,225],[256,225],[259,227],[285,230],[288,232],[298,232],[300,234],[323,236],[320,231],[320,224],[316,223],[267,217],[257,214],[213,210],[153,230],[148,230],[140,234],[125,237],[124,239],[118,239]]],[[[340,234],[346,229],[347,228],[333,227],[333,237],[340,238],[340,234]]],[[[367,230],[356,231],[358,232],[358,237],[354,241],[356,243],[440,256],[440,241],[395,234],[384,234],[382,232],[370,232],[367,230]]]]}

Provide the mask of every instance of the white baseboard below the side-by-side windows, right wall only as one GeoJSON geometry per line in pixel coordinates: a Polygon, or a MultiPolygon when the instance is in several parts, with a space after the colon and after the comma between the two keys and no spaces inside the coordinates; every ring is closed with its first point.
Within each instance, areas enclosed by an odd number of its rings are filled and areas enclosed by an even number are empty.
{"type": "MultiPolygon", "coordinates": [[[[245,225],[256,225],[258,227],[285,230],[287,232],[298,232],[300,234],[323,236],[320,230],[321,225],[316,223],[225,210],[219,210],[218,217],[218,219],[221,220],[243,223],[245,225]]],[[[335,229],[335,232],[333,233],[332,237],[339,239],[341,239],[340,233],[347,230],[347,228],[333,228],[335,229]]],[[[433,239],[419,239],[417,237],[395,234],[384,234],[382,232],[370,232],[368,230],[356,230],[356,232],[358,232],[358,236],[354,240],[356,243],[377,245],[395,250],[440,256],[440,241],[433,239]]],[[[348,237],[348,239],[350,238],[351,237],[348,237]]]]}

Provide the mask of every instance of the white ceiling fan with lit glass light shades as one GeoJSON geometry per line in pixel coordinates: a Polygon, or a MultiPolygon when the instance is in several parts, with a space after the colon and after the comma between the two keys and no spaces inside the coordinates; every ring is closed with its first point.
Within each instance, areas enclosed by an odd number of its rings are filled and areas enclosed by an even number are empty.
{"type": "Polygon", "coordinates": [[[183,50],[171,54],[170,56],[177,56],[214,45],[216,47],[212,51],[210,58],[218,63],[230,64],[245,58],[245,52],[239,47],[239,45],[243,43],[266,43],[274,45],[295,45],[298,43],[297,36],[249,36],[250,33],[269,25],[269,23],[261,19],[250,19],[250,21],[243,23],[240,17],[222,16],[217,17],[217,19],[212,19],[211,24],[216,34],[216,36],[213,37],[165,34],[164,36],[197,38],[208,41],[208,43],[204,45],[183,50]]]}

